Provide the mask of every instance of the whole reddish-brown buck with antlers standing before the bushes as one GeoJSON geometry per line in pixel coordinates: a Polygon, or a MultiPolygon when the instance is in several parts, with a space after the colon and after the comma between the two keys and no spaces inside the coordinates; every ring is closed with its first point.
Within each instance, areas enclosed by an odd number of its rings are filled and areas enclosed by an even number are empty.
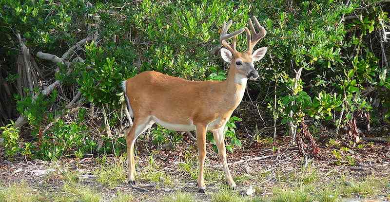
{"type": "Polygon", "coordinates": [[[255,17],[253,20],[258,33],[251,18],[248,19],[251,31],[244,27],[227,34],[233,22],[230,20],[223,24],[219,37],[223,46],[220,52],[223,60],[230,64],[228,77],[224,81],[189,81],[147,71],[122,82],[127,108],[134,118],[133,126],[126,131],[127,177],[130,184],[135,184],[134,144],[137,137],[154,123],[158,123],[175,131],[195,130],[199,155],[199,192],[204,192],[206,188],[203,166],[206,158],[207,130],[213,132],[227,184],[233,188],[236,186],[226,160],[224,129],[242,100],[248,79],[255,80],[259,76],[254,69],[254,62],[263,58],[267,52],[266,47],[253,52],[256,43],[267,33],[255,17]],[[238,52],[237,35],[244,31],[248,41],[247,50],[238,52]],[[232,44],[227,42],[230,38],[233,38],[232,44]]]}

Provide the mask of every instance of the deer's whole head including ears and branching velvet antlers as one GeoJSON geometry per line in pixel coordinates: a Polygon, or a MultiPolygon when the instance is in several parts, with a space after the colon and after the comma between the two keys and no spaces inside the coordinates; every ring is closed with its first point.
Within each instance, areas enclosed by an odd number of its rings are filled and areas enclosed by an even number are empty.
{"type": "Polygon", "coordinates": [[[253,52],[254,46],[257,42],[265,35],[267,34],[267,31],[262,27],[257,20],[256,17],[252,17],[254,20],[254,23],[259,30],[257,33],[254,29],[254,25],[252,23],[251,18],[248,19],[249,26],[251,28],[251,31],[247,27],[241,28],[231,34],[227,34],[228,29],[232,25],[233,21],[229,20],[228,23],[223,23],[221,35],[219,37],[219,40],[221,44],[223,45],[223,48],[221,48],[221,56],[225,62],[228,62],[230,64],[230,68],[235,68],[236,73],[238,73],[242,78],[248,78],[250,80],[256,80],[259,77],[259,74],[254,69],[254,62],[259,61],[261,58],[264,57],[265,53],[267,52],[267,47],[262,47],[253,52]],[[242,32],[246,33],[247,37],[247,50],[245,52],[238,52],[235,49],[235,45],[237,42],[237,35],[241,34],[242,32]],[[251,33],[254,36],[251,37],[251,33]],[[233,38],[233,43],[229,44],[226,40],[233,38]]]}

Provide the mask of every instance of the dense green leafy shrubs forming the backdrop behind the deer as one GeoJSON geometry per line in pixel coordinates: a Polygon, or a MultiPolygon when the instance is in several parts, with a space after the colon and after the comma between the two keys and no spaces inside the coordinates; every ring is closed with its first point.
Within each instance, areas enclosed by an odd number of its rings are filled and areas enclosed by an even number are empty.
{"type": "MultiPolygon", "coordinates": [[[[277,125],[278,136],[286,129],[293,140],[296,134],[315,134],[323,126],[348,144],[358,142],[357,125],[369,129],[370,124],[389,123],[389,40],[384,36],[390,29],[389,3],[2,0],[0,7],[0,89],[6,92],[0,95],[1,122],[6,125],[22,115],[30,126],[21,129],[26,131],[25,144],[16,140],[20,129],[14,125],[1,128],[8,156],[22,152],[57,159],[123,152],[126,121],[120,82],[147,70],[192,80],[224,80],[228,67],[218,51],[219,29],[229,19],[234,20],[231,30],[247,26],[253,15],[267,30],[259,44],[268,52],[256,64],[261,79],[249,84],[251,97],[244,100],[250,100],[266,121],[235,113],[242,115],[251,133],[259,133],[251,138],[272,136],[269,130],[256,130],[264,126],[277,125]],[[25,40],[18,40],[18,33],[25,40]],[[35,56],[43,52],[61,57],[89,36],[95,38],[62,58],[71,65],[35,56]],[[36,68],[15,68],[23,61],[22,43],[36,68]],[[23,76],[26,73],[38,82],[23,76]],[[61,83],[57,90],[40,94],[55,81],[61,83]],[[81,98],[67,107],[78,92],[81,98]],[[305,120],[313,127],[303,131],[305,120]]],[[[238,41],[243,50],[245,36],[238,41]]],[[[240,119],[231,119],[226,129],[232,152],[241,146],[235,121],[240,119]]],[[[160,127],[151,134],[155,144],[182,137],[160,127]]],[[[211,135],[209,140],[213,142],[211,135]]]]}

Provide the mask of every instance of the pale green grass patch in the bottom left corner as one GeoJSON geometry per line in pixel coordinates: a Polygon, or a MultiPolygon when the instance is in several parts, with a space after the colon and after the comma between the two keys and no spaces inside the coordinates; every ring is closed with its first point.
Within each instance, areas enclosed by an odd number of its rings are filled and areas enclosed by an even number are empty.
{"type": "Polygon", "coordinates": [[[11,184],[8,187],[0,186],[0,202],[46,202],[47,200],[37,194],[25,182],[11,184]]]}

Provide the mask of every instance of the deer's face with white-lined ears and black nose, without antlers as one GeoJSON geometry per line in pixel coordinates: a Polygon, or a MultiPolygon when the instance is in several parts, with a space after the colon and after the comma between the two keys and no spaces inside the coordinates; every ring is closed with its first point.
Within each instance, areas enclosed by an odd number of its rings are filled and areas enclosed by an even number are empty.
{"type": "Polygon", "coordinates": [[[259,77],[254,68],[254,62],[259,61],[267,52],[267,47],[259,48],[253,54],[248,52],[236,52],[234,55],[228,49],[221,48],[223,60],[230,64],[230,68],[235,68],[236,72],[243,78],[256,80],[259,77]]]}

